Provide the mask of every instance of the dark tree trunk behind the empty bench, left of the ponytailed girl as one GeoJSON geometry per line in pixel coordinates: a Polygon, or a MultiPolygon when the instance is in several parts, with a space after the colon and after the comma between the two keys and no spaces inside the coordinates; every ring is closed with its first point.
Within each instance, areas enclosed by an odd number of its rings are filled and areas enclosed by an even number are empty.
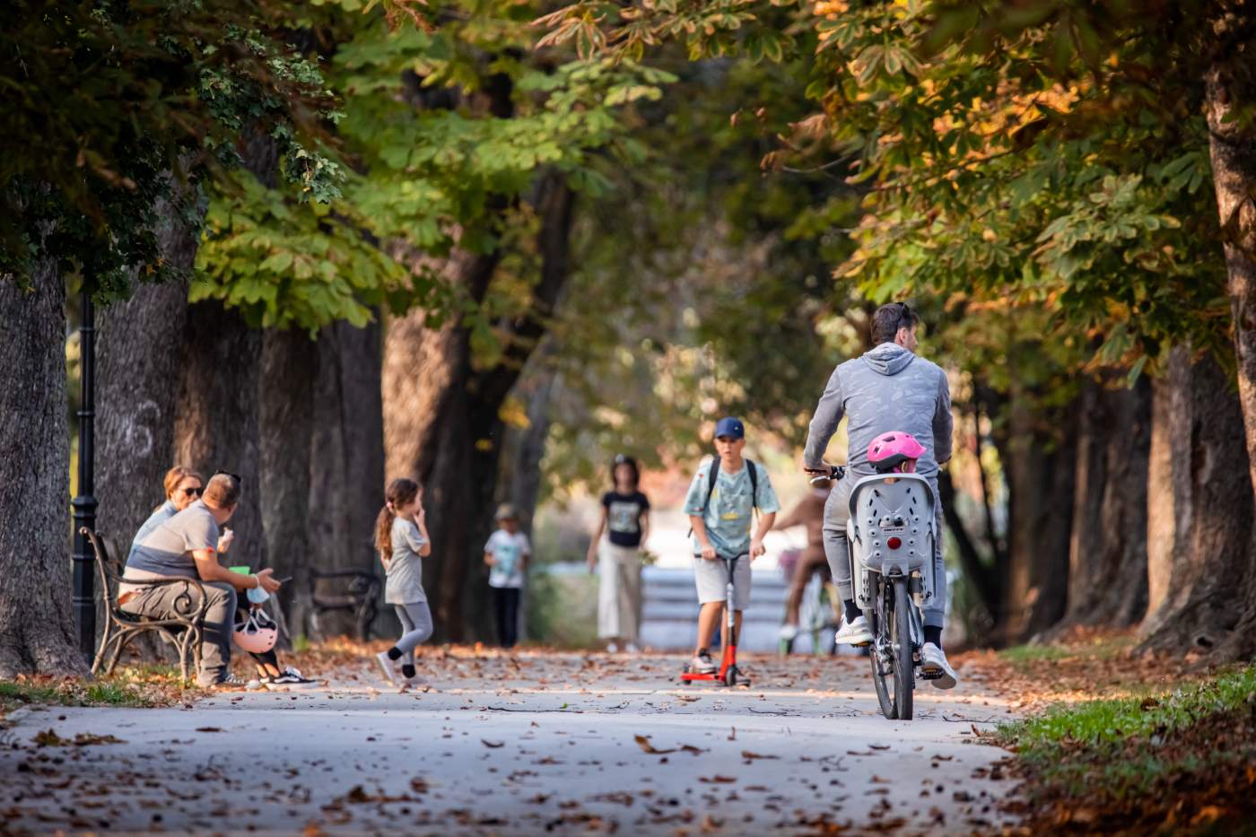
{"type": "MultiPolygon", "coordinates": [[[[309,454],[310,563],[319,569],[378,572],[371,547],[384,495],[383,406],[379,392],[381,327],[334,323],[315,344],[314,427],[309,454]]],[[[308,604],[300,581],[301,607],[308,604]]],[[[342,586],[328,584],[333,593],[342,586]]],[[[300,613],[303,617],[304,613],[300,613]]],[[[328,613],[327,633],[352,633],[349,615],[328,613]]]]}

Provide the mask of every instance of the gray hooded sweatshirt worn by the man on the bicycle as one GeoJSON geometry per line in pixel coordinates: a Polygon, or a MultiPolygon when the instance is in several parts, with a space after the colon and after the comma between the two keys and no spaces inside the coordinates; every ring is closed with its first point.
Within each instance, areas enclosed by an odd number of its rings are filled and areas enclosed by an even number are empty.
{"type": "Polygon", "coordinates": [[[842,363],[829,377],[811,417],[803,461],[819,468],[842,416],[850,417],[847,465],[855,474],[875,474],[868,445],[892,430],[909,432],[924,446],[916,471],[933,479],[938,462],[951,459],[951,390],[946,373],[897,343],[882,343],[863,357],[842,363]]]}

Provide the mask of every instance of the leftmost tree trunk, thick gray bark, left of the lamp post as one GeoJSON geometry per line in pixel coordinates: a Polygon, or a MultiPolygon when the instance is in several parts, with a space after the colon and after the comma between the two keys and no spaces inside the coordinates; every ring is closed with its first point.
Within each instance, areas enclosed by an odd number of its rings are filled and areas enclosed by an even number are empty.
{"type": "Polygon", "coordinates": [[[0,679],[84,675],[70,613],[65,285],[0,278],[0,679]]]}

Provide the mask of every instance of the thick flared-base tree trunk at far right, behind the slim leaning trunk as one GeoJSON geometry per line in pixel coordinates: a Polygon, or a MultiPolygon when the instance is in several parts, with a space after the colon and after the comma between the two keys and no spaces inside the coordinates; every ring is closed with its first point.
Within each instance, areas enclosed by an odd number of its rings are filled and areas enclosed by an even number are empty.
{"type": "Polygon", "coordinates": [[[1148,615],[1143,648],[1207,654],[1237,633],[1242,615],[1236,593],[1247,578],[1252,535],[1252,488],[1238,445],[1243,417],[1212,358],[1189,368],[1178,358],[1176,368],[1171,364],[1169,386],[1181,422],[1171,436],[1177,454],[1174,534],[1187,548],[1168,566],[1163,602],[1148,615]]]}

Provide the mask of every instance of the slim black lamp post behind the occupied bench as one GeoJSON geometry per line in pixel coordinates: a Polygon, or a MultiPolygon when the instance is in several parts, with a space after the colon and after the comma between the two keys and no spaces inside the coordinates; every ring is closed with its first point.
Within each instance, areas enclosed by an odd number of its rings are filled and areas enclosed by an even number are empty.
{"type": "Polygon", "coordinates": [[[83,324],[79,327],[79,371],[83,402],[79,405],[79,485],[74,508],[74,622],[78,626],[79,650],[88,665],[95,654],[95,594],[93,592],[92,544],[79,529],[95,530],[95,312],[92,294],[83,289],[83,324]]]}

